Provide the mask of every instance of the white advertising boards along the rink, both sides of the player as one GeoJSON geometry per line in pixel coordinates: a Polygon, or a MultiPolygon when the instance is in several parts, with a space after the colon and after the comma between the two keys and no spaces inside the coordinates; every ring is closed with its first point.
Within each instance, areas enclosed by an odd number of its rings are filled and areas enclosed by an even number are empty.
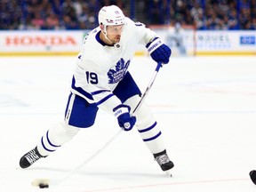
{"type": "MultiPolygon", "coordinates": [[[[153,28],[166,44],[178,38],[166,28],[153,28]],[[171,35],[170,35],[171,34],[171,35]],[[172,38],[171,38],[172,37],[172,38]],[[170,41],[170,39],[172,41],[170,41]]],[[[74,31],[0,31],[0,56],[9,55],[76,55],[81,48],[84,35],[89,30],[74,31]]],[[[256,31],[252,30],[204,30],[183,31],[182,49],[191,55],[256,55],[256,31]]],[[[144,46],[138,46],[137,55],[147,54],[144,46]]],[[[186,56],[186,55],[185,55],[186,56]]]]}

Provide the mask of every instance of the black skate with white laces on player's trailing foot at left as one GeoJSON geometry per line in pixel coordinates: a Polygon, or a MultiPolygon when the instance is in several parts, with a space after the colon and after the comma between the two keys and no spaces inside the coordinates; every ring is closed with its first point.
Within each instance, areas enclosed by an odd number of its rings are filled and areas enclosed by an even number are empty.
{"type": "Polygon", "coordinates": [[[20,158],[20,167],[23,169],[28,168],[31,164],[34,164],[38,159],[42,157],[46,156],[41,156],[37,148],[33,148],[20,158]]]}

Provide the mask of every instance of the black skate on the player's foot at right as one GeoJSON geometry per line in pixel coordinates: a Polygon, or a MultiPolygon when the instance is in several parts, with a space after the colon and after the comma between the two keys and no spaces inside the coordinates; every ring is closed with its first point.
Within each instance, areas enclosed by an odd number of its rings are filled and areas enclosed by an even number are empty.
{"type": "Polygon", "coordinates": [[[164,151],[154,154],[154,157],[156,159],[156,162],[160,165],[161,169],[171,176],[170,170],[172,169],[174,164],[167,156],[166,150],[164,149],[164,151]]]}

